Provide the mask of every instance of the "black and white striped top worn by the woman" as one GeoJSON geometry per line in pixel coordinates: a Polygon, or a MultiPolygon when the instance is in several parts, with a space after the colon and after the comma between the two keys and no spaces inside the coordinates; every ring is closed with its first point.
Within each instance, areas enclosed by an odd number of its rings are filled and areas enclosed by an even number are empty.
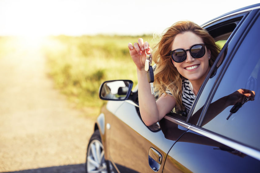
{"type": "MultiPolygon", "coordinates": [[[[169,90],[166,93],[172,96],[169,90]]],[[[191,82],[188,79],[182,80],[182,104],[186,108],[187,113],[190,111],[195,97],[191,82]]]]}

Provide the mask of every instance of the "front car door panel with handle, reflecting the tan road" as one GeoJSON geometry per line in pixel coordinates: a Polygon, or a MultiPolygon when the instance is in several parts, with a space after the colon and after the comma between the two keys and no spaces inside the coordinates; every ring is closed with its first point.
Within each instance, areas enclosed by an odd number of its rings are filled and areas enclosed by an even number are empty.
{"type": "Polygon", "coordinates": [[[109,118],[108,157],[118,172],[162,172],[168,151],[187,130],[177,126],[178,137],[166,139],[158,123],[144,124],[138,105],[130,100],[109,118]]]}

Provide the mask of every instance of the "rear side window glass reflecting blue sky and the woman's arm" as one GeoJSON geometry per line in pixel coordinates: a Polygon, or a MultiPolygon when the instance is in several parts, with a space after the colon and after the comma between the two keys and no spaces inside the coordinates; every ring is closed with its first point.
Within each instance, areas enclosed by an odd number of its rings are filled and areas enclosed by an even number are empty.
{"type": "Polygon", "coordinates": [[[202,122],[203,128],[256,149],[260,149],[258,137],[258,123],[260,122],[259,28],[260,18],[258,17],[229,64],[202,122]],[[244,100],[236,92],[241,88],[254,91],[254,101],[247,101],[227,119],[231,108],[236,103],[234,100],[244,100]]]}

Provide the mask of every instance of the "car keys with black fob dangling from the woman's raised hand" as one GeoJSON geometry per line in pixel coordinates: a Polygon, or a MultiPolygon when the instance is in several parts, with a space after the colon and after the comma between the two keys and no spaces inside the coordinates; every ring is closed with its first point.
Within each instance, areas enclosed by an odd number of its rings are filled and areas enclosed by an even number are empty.
{"type": "Polygon", "coordinates": [[[154,76],[153,76],[153,67],[151,66],[152,64],[152,52],[150,54],[146,54],[146,61],[145,61],[145,70],[147,71],[147,79],[148,82],[150,83],[150,87],[151,87],[151,93],[154,95],[154,91],[153,91],[153,81],[154,81],[154,76]]]}

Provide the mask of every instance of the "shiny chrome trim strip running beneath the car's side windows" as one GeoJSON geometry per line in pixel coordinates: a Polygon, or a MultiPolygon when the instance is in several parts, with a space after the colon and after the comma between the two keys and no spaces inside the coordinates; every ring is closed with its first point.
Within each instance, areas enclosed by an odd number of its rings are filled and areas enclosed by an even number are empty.
{"type": "Polygon", "coordinates": [[[231,141],[231,140],[229,140],[229,139],[227,139],[225,137],[222,137],[220,135],[217,135],[217,134],[208,132],[206,130],[200,129],[200,128],[196,127],[196,126],[189,125],[189,124],[187,124],[185,122],[182,122],[182,121],[178,120],[175,117],[170,117],[168,115],[165,115],[164,118],[169,120],[169,121],[171,121],[171,122],[173,122],[173,123],[176,123],[176,124],[178,124],[180,126],[183,126],[183,127],[187,128],[189,130],[192,130],[192,131],[194,131],[194,132],[196,132],[198,134],[201,134],[201,135],[203,135],[205,137],[208,137],[208,138],[210,138],[210,139],[212,139],[214,141],[220,142],[220,143],[222,143],[224,145],[227,145],[228,147],[231,147],[231,148],[233,148],[235,150],[243,152],[244,154],[246,154],[248,156],[251,156],[251,157],[253,157],[253,158],[257,159],[257,160],[260,160],[260,151],[258,151],[256,149],[252,149],[252,148],[250,148],[248,146],[239,144],[239,143],[237,143],[235,141],[231,141]]]}

